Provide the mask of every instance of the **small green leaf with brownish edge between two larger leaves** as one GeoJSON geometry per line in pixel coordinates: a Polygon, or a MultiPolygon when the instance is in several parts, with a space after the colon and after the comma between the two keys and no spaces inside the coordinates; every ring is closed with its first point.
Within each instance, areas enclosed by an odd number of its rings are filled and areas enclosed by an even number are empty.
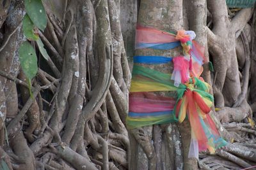
{"type": "Polygon", "coordinates": [[[38,34],[35,33],[36,29],[37,28],[29,18],[28,14],[26,14],[23,18],[23,31],[26,38],[28,38],[30,41],[36,41],[38,39],[38,34]]]}

